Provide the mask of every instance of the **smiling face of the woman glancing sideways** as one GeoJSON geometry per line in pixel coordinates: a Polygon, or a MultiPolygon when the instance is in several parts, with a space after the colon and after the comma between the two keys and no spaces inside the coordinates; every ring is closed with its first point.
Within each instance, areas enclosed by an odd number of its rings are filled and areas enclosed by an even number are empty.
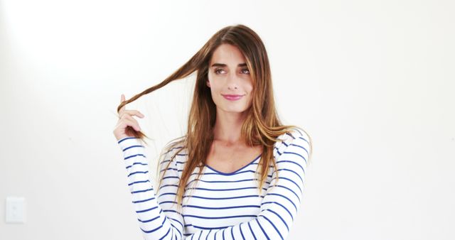
{"type": "Polygon", "coordinates": [[[207,86],[217,111],[242,113],[250,107],[252,80],[237,47],[222,44],[215,49],[208,66],[207,86]]]}

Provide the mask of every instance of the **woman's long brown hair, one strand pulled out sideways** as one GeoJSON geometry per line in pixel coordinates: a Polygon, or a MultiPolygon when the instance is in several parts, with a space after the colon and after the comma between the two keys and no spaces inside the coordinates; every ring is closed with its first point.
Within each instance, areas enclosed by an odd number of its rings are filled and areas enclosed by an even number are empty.
{"type": "MultiPolygon", "coordinates": [[[[253,84],[252,105],[246,110],[248,114],[242,124],[242,138],[245,139],[245,142],[249,146],[260,145],[263,148],[261,159],[257,165],[259,192],[262,190],[264,181],[267,180],[269,165],[272,164],[274,170],[277,170],[277,164],[273,156],[273,146],[277,142],[277,137],[287,133],[291,128],[298,128],[296,126],[283,126],[279,121],[274,104],[269,58],[267,57],[264,43],[262,43],[257,33],[242,24],[222,28],[188,62],[178,68],[178,70],[173,72],[163,82],[144,90],[144,92],[122,102],[117,107],[118,112],[125,104],[133,102],[144,94],[154,92],[156,89],[166,86],[169,82],[183,79],[191,75],[191,73],[197,72],[186,136],[178,138],[178,141],[174,141],[166,147],[166,149],[171,149],[177,145],[183,146],[183,148],[180,148],[173,154],[171,161],[164,168],[164,173],[166,173],[168,166],[177,153],[180,153],[185,148],[188,151],[188,160],[178,182],[176,194],[178,205],[183,202],[183,194],[185,193],[188,179],[191,173],[193,173],[193,170],[199,167],[198,177],[202,173],[202,167],[205,165],[205,159],[210,150],[209,146],[213,142],[216,106],[206,82],[208,80],[210,58],[215,49],[224,43],[235,45],[240,50],[245,56],[248,70],[250,70],[253,84]]],[[[304,131],[303,129],[301,130],[304,131]]],[[[130,135],[137,138],[144,138],[145,136],[141,131],[134,131],[131,127],[127,131],[130,135]]],[[[164,173],[159,178],[159,186],[161,185],[164,173]]],[[[159,187],[156,189],[159,189],[159,187]]]]}

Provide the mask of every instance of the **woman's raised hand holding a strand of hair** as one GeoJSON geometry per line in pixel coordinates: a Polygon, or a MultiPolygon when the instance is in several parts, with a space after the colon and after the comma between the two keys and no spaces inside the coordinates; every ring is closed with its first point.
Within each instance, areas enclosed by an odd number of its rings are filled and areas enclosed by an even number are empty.
{"type": "MultiPolygon", "coordinates": [[[[120,103],[125,101],[125,96],[122,94],[120,97],[120,103]]],[[[119,141],[122,138],[126,138],[129,136],[133,136],[131,132],[129,132],[129,126],[132,127],[135,131],[141,131],[141,127],[137,123],[136,119],[133,116],[139,116],[143,118],[144,115],[137,110],[127,110],[125,106],[123,106],[119,110],[119,121],[117,122],[117,126],[114,129],[114,136],[119,141]]]]}

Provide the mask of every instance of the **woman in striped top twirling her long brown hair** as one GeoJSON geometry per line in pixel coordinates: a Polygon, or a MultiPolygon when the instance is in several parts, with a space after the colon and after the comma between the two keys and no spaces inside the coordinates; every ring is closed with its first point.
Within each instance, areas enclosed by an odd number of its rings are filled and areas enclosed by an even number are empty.
{"type": "Polygon", "coordinates": [[[221,29],[164,82],[127,101],[122,95],[117,110],[114,136],[144,239],[286,239],[311,139],[280,123],[269,60],[254,31],[221,29]],[[195,71],[188,131],[161,154],[154,188],[133,117],[144,115],[125,105],[195,71]]]}

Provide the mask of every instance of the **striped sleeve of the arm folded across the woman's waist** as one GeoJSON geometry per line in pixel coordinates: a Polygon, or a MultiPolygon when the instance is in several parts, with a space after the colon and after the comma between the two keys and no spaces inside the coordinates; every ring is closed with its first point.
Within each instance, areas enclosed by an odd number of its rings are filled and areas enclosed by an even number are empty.
{"type": "Polygon", "coordinates": [[[186,239],[286,239],[301,205],[310,149],[306,133],[284,135],[274,148],[279,179],[274,171],[258,216],[225,229],[201,230],[186,239]]]}

